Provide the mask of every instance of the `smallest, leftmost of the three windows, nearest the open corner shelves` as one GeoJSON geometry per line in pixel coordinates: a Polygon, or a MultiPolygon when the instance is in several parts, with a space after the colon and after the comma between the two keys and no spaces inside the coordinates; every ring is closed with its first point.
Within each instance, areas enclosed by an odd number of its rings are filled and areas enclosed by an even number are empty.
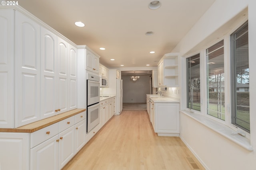
{"type": "Polygon", "coordinates": [[[200,54],[188,57],[187,64],[187,107],[200,111],[200,54]]]}

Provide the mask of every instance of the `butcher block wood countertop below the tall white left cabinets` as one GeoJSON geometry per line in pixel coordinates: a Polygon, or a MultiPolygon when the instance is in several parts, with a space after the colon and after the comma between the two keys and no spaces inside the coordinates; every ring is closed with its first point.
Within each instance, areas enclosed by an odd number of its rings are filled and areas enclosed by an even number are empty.
{"type": "Polygon", "coordinates": [[[62,121],[68,117],[74,116],[83,111],[86,111],[86,109],[74,109],[74,110],[66,111],[59,115],[48,117],[46,119],[42,119],[40,121],[36,121],[34,123],[30,123],[28,125],[24,125],[22,127],[18,127],[15,129],[1,129],[0,128],[0,132],[32,133],[34,131],[37,131],[37,130],[42,129],[47,126],[50,126],[54,123],[62,121]]]}

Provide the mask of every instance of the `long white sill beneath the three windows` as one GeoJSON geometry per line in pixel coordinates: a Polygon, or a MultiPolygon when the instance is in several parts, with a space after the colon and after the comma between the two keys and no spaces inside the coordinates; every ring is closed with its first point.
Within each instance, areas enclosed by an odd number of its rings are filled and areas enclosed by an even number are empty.
{"type": "Polygon", "coordinates": [[[240,145],[246,150],[253,151],[252,146],[250,145],[250,140],[246,137],[243,137],[242,135],[232,135],[232,132],[234,132],[233,129],[230,127],[219,123],[217,121],[214,121],[212,119],[209,119],[208,117],[199,115],[197,113],[192,113],[190,111],[181,110],[181,113],[187,115],[188,117],[191,117],[192,119],[198,121],[202,125],[212,129],[216,133],[219,133],[223,137],[226,137],[227,139],[233,141],[234,143],[240,145]]]}

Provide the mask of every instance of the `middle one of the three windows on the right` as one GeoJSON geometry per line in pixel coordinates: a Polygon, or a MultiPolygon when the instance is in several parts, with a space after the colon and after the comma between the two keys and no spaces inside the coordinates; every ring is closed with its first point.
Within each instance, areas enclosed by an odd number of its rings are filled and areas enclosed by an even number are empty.
{"type": "Polygon", "coordinates": [[[225,120],[224,40],[206,49],[207,114],[225,120]]]}

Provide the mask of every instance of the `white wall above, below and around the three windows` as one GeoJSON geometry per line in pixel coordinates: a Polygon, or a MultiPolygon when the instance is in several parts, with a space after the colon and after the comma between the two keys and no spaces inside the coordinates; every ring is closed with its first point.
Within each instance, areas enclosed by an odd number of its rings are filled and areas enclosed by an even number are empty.
{"type": "MultiPolygon", "coordinates": [[[[250,72],[256,72],[256,1],[216,0],[212,7],[190,29],[172,52],[181,56],[196,51],[226,34],[248,6],[250,72]]],[[[181,57],[181,58],[182,58],[181,57]]],[[[182,60],[181,60],[182,61],[182,60]]],[[[185,68],[180,69],[180,73],[185,68]]],[[[183,79],[181,84],[186,83],[183,79]]],[[[184,85],[182,85],[184,87],[184,85]]],[[[256,75],[250,74],[250,87],[256,86],[256,75]]],[[[186,105],[186,89],[180,88],[181,106],[186,105]]],[[[168,95],[173,94],[168,92],[168,95]]],[[[205,125],[180,113],[180,138],[197,156],[206,170],[256,170],[256,89],[250,88],[250,143],[254,151],[248,151],[205,125]]]]}

